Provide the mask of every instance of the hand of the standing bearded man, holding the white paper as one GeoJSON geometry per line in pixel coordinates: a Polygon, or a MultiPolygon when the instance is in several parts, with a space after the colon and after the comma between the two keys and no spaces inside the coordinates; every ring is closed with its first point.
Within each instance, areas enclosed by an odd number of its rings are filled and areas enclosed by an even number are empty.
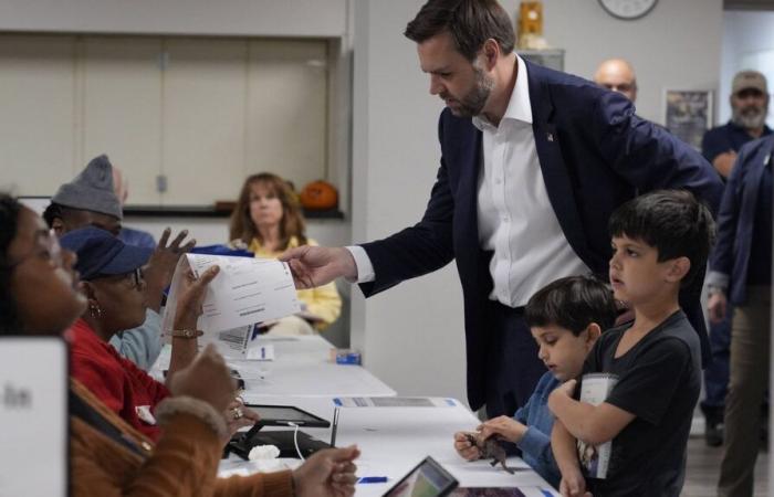
{"type": "Polygon", "coordinates": [[[344,247],[300,246],[280,256],[290,264],[297,288],[314,288],[344,276],[357,281],[355,258],[344,247]]]}

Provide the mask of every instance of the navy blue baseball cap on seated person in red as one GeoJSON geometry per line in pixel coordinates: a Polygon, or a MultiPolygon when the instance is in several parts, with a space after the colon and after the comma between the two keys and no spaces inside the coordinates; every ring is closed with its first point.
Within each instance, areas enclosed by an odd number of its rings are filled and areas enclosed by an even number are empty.
{"type": "Polygon", "coordinates": [[[75,252],[75,271],[84,281],[132,273],[147,264],[153,253],[150,248],[126,245],[109,232],[94,226],[64,234],[60,245],[75,252]]]}

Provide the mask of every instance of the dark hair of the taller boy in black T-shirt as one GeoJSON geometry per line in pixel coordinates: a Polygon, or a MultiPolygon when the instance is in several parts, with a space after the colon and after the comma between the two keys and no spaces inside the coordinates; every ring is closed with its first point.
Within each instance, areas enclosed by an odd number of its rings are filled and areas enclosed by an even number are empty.
{"type": "Polygon", "coordinates": [[[657,190],[629,200],[613,212],[610,236],[640,240],[658,251],[658,262],[688,257],[691,268],[681,285],[704,271],[714,243],[710,210],[687,190],[657,190]]]}

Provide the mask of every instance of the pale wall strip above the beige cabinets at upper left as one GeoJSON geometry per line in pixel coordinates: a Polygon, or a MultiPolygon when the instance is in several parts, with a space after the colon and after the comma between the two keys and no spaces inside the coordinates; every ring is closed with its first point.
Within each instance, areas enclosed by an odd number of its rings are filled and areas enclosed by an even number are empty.
{"type": "Polygon", "coordinates": [[[4,0],[0,31],[341,36],[349,0],[4,0]]]}

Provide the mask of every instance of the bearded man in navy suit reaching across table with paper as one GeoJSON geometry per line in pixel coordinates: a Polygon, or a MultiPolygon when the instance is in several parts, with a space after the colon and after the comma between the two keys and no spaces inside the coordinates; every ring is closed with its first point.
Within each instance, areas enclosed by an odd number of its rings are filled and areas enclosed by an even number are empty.
{"type": "MultiPolygon", "coordinates": [[[[494,0],[430,0],[405,34],[430,93],[447,104],[425,215],[385,240],[300,247],[283,260],[301,285],[345,276],[366,296],[454,260],[468,400],[485,403],[490,416],[513,414],[552,366],[524,322],[530,296],[563,276],[607,275],[608,216],[637,191],[687,188],[715,208],[722,186],[699,154],[637,117],[624,96],[513,53],[511,20],[494,0]]],[[[684,294],[703,337],[700,285],[684,294]]]]}

